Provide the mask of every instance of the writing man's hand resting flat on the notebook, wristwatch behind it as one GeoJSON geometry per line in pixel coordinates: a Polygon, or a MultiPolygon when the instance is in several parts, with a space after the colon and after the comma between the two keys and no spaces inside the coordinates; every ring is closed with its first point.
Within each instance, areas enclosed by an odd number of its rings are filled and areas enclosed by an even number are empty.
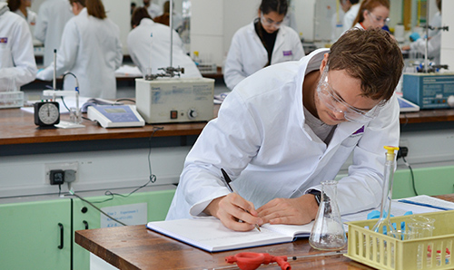
{"type": "Polygon", "coordinates": [[[302,225],[317,216],[319,206],[312,194],[300,198],[274,198],[257,209],[264,223],[302,225]]]}

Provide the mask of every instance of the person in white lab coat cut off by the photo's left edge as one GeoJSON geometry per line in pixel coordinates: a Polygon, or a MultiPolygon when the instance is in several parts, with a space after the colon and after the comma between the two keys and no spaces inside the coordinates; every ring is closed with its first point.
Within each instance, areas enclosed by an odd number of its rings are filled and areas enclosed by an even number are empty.
{"type": "MultiPolygon", "coordinates": [[[[18,14],[0,2],[0,76],[14,78],[17,87],[35,80],[36,62],[32,34],[18,14]]],[[[3,85],[3,82],[0,82],[3,85]]],[[[0,90],[5,91],[5,89],[0,90]]]]}

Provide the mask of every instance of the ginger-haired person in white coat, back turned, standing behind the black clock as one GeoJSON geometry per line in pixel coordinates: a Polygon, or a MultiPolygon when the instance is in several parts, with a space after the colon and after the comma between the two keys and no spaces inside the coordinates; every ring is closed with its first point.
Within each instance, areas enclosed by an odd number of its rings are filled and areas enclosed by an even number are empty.
{"type": "MultiPolygon", "coordinates": [[[[120,29],[109,20],[101,0],[70,0],[75,16],[64,26],[57,51],[57,76],[72,72],[79,82],[81,96],[114,99],[115,70],[123,60],[120,29]]],[[[52,80],[54,63],[36,78],[52,80]]],[[[74,90],[72,76],[64,77],[64,90],[74,90]]]]}

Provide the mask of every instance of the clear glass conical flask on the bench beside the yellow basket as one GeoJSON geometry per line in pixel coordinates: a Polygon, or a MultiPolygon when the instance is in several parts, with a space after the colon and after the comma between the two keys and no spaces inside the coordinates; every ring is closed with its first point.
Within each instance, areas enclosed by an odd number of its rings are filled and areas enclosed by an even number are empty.
{"type": "Polygon", "coordinates": [[[335,180],[321,182],[321,203],[309,237],[313,248],[340,250],[347,245],[347,236],[337,204],[335,180]]]}

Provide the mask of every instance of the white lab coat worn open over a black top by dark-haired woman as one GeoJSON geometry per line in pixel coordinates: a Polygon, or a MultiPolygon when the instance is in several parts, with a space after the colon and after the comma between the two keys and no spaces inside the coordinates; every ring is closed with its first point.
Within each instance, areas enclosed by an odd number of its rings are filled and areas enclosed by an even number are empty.
{"type": "MultiPolygon", "coordinates": [[[[271,55],[271,64],[300,60],[304,56],[299,35],[286,25],[281,25],[271,55]]],[[[268,53],[254,23],[240,28],[232,37],[224,66],[224,82],[233,89],[239,82],[263,68],[268,62],[268,53]]]]}

